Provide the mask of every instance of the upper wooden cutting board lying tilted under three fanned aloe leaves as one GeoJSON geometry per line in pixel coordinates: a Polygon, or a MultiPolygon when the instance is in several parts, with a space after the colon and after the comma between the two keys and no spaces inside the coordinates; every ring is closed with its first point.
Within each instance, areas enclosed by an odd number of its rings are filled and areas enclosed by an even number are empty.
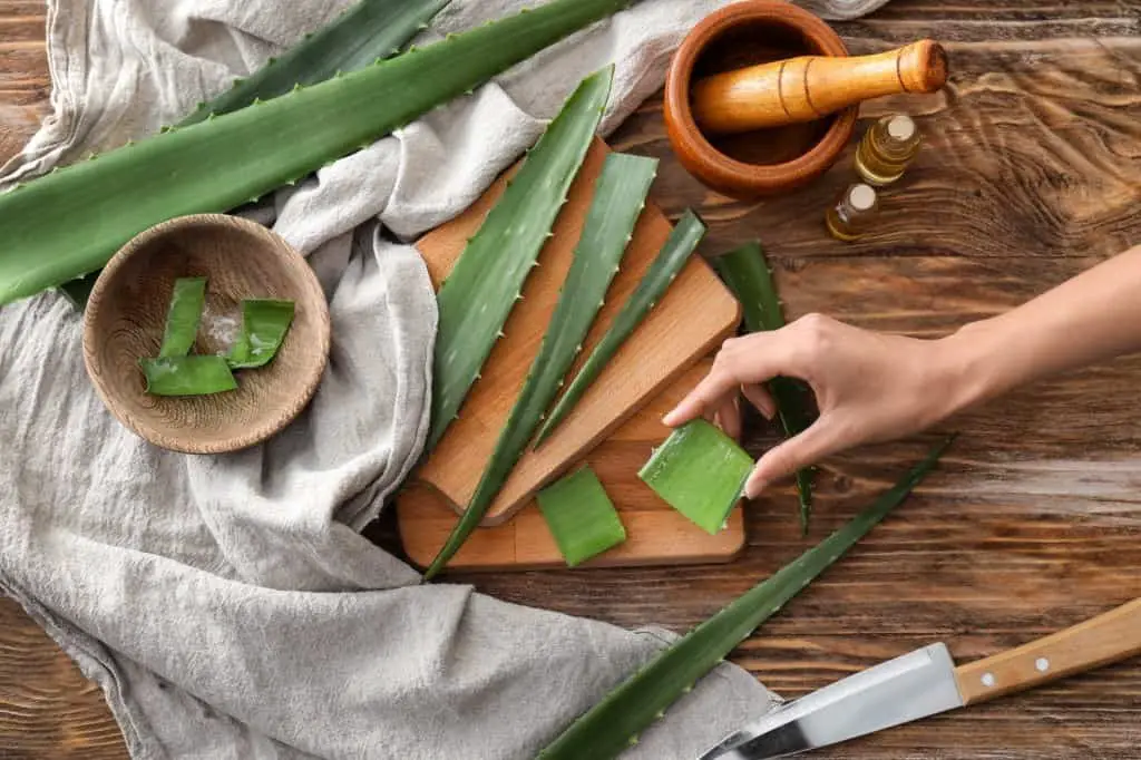
{"type": "MultiPolygon", "coordinates": [[[[508,317],[504,337],[488,356],[482,378],[468,394],[459,419],[452,422],[436,450],[413,475],[414,480],[435,488],[455,511],[462,511],[475,492],[531,362],[539,351],[559,289],[570,267],[593,196],[594,181],[608,152],[606,144],[596,139],[556,220],[552,237],[540,252],[539,267],[527,277],[523,300],[516,304],[508,317]]],[[[416,243],[436,288],[451,272],[468,238],[483,224],[488,209],[502,194],[507,178],[517,168],[518,164],[505,172],[464,213],[416,243]]],[[[577,372],[591,347],[605,333],[671,231],[665,216],[647,203],[622,266],[606,294],[606,304],[594,320],[584,349],[568,377],[577,372]]],[[[528,451],[519,461],[483,524],[497,525],[508,519],[540,488],[565,474],[570,463],[606,438],[699,357],[709,354],[733,333],[741,320],[739,308],[710,266],[695,254],[583,395],[575,411],[539,450],[528,451]]]]}

